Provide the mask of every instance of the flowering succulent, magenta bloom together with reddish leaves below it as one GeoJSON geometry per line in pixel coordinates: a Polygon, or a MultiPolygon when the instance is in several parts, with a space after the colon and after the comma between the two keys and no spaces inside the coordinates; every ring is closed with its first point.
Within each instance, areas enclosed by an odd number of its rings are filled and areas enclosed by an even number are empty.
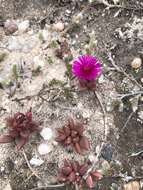
{"type": "Polygon", "coordinates": [[[101,73],[101,63],[91,55],[81,55],[73,61],[72,73],[79,80],[82,90],[95,90],[95,80],[101,73]]]}

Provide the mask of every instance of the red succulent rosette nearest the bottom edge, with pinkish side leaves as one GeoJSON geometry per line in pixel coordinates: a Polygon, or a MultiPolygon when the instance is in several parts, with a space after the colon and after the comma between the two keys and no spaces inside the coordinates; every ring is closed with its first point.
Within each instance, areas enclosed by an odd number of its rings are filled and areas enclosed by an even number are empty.
{"type": "Polygon", "coordinates": [[[79,164],[77,161],[65,159],[63,167],[59,169],[58,180],[64,183],[76,183],[79,186],[86,184],[88,188],[93,188],[96,181],[100,180],[103,176],[98,171],[88,173],[88,169],[86,163],[79,164]]]}

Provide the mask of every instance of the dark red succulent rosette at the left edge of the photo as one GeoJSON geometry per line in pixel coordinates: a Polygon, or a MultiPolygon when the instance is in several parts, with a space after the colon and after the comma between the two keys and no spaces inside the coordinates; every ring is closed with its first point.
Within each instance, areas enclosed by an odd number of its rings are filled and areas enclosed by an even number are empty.
{"type": "Polygon", "coordinates": [[[8,132],[0,136],[0,143],[15,142],[17,149],[21,149],[29,140],[33,132],[37,131],[38,124],[32,120],[32,113],[17,112],[13,117],[6,119],[8,132]]]}

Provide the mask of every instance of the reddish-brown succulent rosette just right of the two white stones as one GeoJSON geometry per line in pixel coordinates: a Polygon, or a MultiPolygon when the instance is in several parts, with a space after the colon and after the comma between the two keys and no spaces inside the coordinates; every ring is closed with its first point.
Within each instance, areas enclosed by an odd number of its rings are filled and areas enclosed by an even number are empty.
{"type": "Polygon", "coordinates": [[[83,135],[84,130],[81,123],[69,119],[66,126],[57,129],[58,136],[56,141],[64,146],[71,145],[77,153],[82,154],[90,148],[87,137],[83,135]]]}

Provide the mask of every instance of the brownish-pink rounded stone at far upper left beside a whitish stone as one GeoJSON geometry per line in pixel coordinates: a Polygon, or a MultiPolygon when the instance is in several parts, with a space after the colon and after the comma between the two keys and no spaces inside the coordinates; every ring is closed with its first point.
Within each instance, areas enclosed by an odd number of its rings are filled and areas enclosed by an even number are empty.
{"type": "Polygon", "coordinates": [[[13,34],[17,30],[18,30],[18,26],[16,22],[8,20],[4,23],[4,31],[6,35],[13,34]]]}

